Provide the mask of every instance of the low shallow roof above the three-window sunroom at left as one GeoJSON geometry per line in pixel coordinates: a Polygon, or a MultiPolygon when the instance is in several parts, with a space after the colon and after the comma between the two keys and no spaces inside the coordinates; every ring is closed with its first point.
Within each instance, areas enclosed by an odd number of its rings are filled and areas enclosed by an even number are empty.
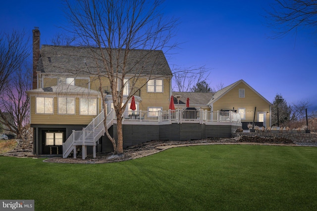
{"type": "Polygon", "coordinates": [[[81,86],[76,85],[69,85],[69,84],[61,84],[55,85],[46,88],[37,88],[26,91],[27,94],[33,93],[58,93],[58,94],[93,94],[93,95],[101,95],[99,91],[84,88],[81,86]]]}

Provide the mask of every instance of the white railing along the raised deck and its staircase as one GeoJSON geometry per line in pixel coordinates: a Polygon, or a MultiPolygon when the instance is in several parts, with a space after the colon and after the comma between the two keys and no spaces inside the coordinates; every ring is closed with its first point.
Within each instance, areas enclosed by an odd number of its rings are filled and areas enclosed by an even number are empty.
{"type": "MultiPolygon", "coordinates": [[[[114,110],[106,116],[106,126],[108,129],[116,119],[114,110]]],[[[123,121],[156,121],[169,123],[185,122],[237,122],[240,123],[240,114],[232,111],[207,111],[207,110],[168,110],[168,111],[125,111],[122,115],[123,121]]],[[[105,133],[104,111],[102,111],[92,122],[82,130],[73,130],[72,134],[63,143],[63,158],[66,158],[75,145],[85,145],[95,143],[105,133]]],[[[91,144],[90,144],[91,145],[91,144]]]]}

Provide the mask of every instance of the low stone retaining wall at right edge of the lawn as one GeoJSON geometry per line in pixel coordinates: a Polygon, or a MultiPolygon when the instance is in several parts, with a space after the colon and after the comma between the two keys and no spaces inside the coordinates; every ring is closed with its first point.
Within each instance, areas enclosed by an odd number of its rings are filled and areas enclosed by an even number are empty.
{"type": "Polygon", "coordinates": [[[317,133],[292,133],[292,132],[236,132],[234,137],[239,135],[262,136],[262,137],[283,137],[294,142],[317,143],[317,133]]]}

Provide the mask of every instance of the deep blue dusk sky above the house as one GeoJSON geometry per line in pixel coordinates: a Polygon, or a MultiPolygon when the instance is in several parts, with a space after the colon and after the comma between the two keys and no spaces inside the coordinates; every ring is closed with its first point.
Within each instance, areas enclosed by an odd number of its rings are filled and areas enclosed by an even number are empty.
{"type": "MultiPolygon", "coordinates": [[[[67,24],[59,0],[11,0],[0,7],[0,31],[24,29],[32,38],[39,27],[41,44],[51,44],[67,24]]],[[[173,65],[210,69],[208,83],[227,86],[240,79],[272,102],[281,94],[289,103],[309,100],[317,110],[317,34],[299,29],[297,36],[269,39],[265,9],[272,0],[167,0],[166,16],[179,19],[174,42],[166,54],[173,65]]]]}

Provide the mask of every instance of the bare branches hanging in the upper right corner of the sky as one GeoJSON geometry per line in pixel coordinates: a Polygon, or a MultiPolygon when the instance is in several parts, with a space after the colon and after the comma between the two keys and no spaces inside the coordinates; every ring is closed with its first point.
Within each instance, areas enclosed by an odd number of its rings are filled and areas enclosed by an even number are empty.
{"type": "Polygon", "coordinates": [[[317,27],[316,0],[275,0],[267,11],[276,38],[281,38],[299,27],[317,27]]]}

